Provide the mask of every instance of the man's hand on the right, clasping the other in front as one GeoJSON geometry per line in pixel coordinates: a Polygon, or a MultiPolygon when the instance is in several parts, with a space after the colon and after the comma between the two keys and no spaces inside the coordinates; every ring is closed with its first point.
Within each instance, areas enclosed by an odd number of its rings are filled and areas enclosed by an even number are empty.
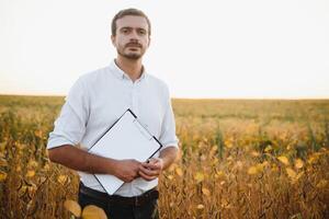
{"type": "Polygon", "coordinates": [[[138,174],[146,181],[157,178],[163,169],[163,161],[160,158],[151,158],[148,162],[141,163],[138,174]]]}

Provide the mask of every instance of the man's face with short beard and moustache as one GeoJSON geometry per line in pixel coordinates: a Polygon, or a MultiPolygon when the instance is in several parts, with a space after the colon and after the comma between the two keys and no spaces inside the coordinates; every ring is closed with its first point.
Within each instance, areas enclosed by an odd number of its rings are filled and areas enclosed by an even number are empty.
{"type": "Polygon", "coordinates": [[[118,55],[128,59],[141,58],[150,39],[146,19],[126,15],[116,20],[116,35],[111,38],[118,55]]]}

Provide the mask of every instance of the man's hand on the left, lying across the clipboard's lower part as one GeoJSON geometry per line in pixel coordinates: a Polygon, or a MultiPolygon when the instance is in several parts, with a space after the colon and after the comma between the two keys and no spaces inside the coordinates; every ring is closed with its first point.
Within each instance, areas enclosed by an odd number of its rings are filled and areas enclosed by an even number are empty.
{"type": "Polygon", "coordinates": [[[125,183],[131,183],[138,177],[140,162],[136,160],[118,160],[115,164],[114,175],[125,183]]]}

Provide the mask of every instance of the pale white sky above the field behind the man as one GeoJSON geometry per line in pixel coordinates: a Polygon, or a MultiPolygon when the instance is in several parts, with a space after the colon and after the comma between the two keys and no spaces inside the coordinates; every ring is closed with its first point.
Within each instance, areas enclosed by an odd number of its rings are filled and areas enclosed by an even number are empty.
{"type": "Polygon", "coordinates": [[[124,8],[151,20],[144,64],[173,97],[329,97],[327,0],[0,0],[0,94],[66,95],[116,56],[124,8]]]}

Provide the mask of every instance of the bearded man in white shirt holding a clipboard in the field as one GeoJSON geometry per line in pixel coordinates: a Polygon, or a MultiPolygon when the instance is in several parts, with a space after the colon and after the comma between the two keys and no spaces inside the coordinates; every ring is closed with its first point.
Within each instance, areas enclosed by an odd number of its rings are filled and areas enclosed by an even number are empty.
{"type": "Polygon", "coordinates": [[[111,219],[158,218],[158,176],[178,153],[168,88],[148,74],[141,64],[150,33],[150,22],[144,12],[120,11],[112,20],[111,39],[117,50],[116,59],[79,78],[49,134],[49,159],[79,172],[81,207],[97,205],[111,219]],[[127,108],[163,145],[158,158],[138,162],[87,152],[127,108]],[[115,175],[125,183],[110,196],[94,177],[95,173],[115,175]]]}

